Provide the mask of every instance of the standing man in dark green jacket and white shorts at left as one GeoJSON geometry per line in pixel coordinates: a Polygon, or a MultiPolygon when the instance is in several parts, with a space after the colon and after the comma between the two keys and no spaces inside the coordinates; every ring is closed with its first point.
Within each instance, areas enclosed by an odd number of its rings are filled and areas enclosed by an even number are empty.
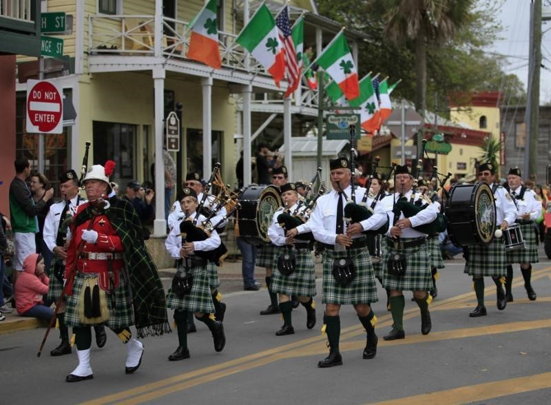
{"type": "Polygon", "coordinates": [[[15,260],[12,283],[17,289],[17,276],[23,271],[23,260],[37,251],[34,233],[38,229],[37,214],[54,196],[54,189],[48,189],[38,203],[34,203],[25,180],[30,176],[30,165],[26,158],[14,162],[15,177],[10,184],[10,222],[14,233],[15,260]]]}

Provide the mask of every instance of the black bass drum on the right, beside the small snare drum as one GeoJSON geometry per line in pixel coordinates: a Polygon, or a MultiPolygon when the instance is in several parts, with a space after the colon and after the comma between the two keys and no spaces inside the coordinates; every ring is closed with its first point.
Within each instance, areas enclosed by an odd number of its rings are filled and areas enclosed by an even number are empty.
{"type": "Polygon", "coordinates": [[[489,245],[496,229],[496,208],[488,183],[453,185],[446,200],[446,217],[455,245],[489,245]]]}

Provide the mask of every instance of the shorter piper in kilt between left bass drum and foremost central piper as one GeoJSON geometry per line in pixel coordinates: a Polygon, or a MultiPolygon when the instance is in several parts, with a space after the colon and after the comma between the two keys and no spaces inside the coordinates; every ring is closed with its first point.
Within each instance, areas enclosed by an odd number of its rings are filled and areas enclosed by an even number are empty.
{"type": "MultiPolygon", "coordinates": [[[[284,206],[287,207],[289,213],[293,213],[298,204],[298,193],[294,183],[287,183],[280,187],[281,198],[284,206]]],[[[298,229],[288,229],[288,234],[292,236],[285,237],[284,229],[278,222],[278,216],[282,214],[283,209],[275,211],[273,214],[272,223],[268,229],[268,236],[275,245],[275,265],[272,273],[271,288],[272,291],[278,293],[280,301],[279,307],[283,315],[283,326],[275,335],[292,335],[295,333],[293,322],[291,322],[291,311],[293,304],[291,295],[296,295],[302,306],[306,309],[306,327],[312,329],[315,326],[315,304],[313,296],[315,295],[315,269],[312,260],[309,240],[294,239],[293,236],[298,234],[298,229]],[[284,256],[281,258],[280,256],[284,256]],[[295,264],[292,260],[282,262],[285,255],[293,255],[295,264]],[[280,270],[279,263],[282,262],[280,270]],[[294,269],[293,269],[294,267],[294,269]],[[285,270],[283,270],[285,269],[285,270]],[[289,273],[288,273],[289,271],[289,273]]],[[[307,225],[302,225],[302,232],[309,231],[307,225]]]]}

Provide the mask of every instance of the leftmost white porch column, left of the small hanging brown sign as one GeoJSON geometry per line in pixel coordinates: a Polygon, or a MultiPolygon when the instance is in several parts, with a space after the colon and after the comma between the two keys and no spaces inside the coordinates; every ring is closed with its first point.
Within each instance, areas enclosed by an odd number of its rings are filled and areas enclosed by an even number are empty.
{"type": "Polygon", "coordinates": [[[165,236],[167,234],[167,221],[165,220],[165,163],[163,163],[165,70],[162,67],[154,68],[153,81],[155,89],[155,221],[153,232],[154,236],[165,236]]]}

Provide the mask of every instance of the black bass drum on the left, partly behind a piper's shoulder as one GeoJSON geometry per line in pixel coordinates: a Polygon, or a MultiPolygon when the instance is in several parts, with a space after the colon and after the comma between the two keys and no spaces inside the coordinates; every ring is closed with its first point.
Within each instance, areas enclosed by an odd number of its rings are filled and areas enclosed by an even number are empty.
{"type": "Polygon", "coordinates": [[[282,207],[280,190],[273,185],[249,185],[239,197],[239,236],[252,245],[270,242],[268,228],[275,211],[282,207]]]}

